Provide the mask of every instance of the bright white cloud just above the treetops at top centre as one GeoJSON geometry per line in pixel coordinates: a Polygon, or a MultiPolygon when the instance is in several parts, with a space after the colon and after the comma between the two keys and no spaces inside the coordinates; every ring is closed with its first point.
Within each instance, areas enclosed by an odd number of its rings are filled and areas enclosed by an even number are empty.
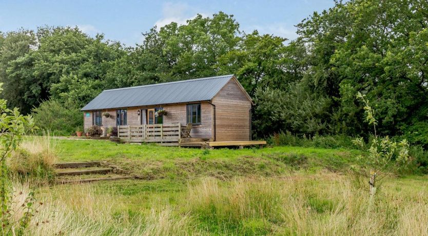
{"type": "MultiPolygon", "coordinates": [[[[184,3],[165,3],[162,7],[162,18],[154,23],[154,25],[157,26],[158,29],[171,22],[176,22],[178,25],[184,25],[188,19],[193,19],[197,16],[195,12],[196,9],[190,8],[184,3]]],[[[203,16],[208,15],[204,13],[200,14],[203,16]]]]}

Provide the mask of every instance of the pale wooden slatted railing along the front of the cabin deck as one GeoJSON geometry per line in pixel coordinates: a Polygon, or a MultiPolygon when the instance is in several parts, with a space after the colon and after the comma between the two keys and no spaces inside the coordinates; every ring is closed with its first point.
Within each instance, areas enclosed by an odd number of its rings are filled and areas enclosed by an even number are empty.
{"type": "Polygon", "coordinates": [[[181,124],[120,125],[118,136],[125,142],[180,142],[181,124]]]}

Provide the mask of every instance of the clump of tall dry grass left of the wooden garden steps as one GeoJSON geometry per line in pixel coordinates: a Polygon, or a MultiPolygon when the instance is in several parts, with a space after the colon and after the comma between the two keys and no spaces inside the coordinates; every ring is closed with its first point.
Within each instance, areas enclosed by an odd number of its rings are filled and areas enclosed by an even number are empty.
{"type": "Polygon", "coordinates": [[[49,132],[42,136],[26,136],[8,160],[11,173],[35,180],[52,179],[53,165],[61,152],[60,144],[61,140],[49,132]]]}

